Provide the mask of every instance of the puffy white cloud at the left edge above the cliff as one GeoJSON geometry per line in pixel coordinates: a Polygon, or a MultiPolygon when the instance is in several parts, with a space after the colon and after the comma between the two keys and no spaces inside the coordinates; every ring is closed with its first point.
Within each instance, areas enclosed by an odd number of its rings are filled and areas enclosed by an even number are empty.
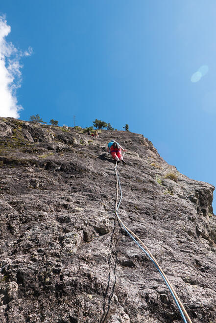
{"type": "Polygon", "coordinates": [[[22,73],[20,60],[32,53],[32,48],[22,52],[5,40],[11,28],[4,16],[0,16],[0,116],[18,118],[23,109],[18,104],[16,91],[21,87],[22,73]]]}

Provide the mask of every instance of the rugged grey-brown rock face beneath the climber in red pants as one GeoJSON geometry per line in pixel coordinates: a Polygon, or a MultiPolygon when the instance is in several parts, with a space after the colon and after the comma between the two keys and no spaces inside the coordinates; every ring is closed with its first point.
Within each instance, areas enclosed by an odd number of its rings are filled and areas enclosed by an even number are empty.
{"type": "Polygon", "coordinates": [[[0,118],[0,322],[182,322],[154,254],[192,322],[216,322],[214,187],[180,174],[142,135],[0,118]]]}

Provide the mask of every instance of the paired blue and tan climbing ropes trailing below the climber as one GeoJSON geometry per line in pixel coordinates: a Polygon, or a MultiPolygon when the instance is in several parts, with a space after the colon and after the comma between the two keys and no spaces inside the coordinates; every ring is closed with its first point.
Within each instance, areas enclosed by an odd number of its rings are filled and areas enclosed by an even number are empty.
{"type": "MultiPolygon", "coordinates": [[[[124,154],[123,154],[124,156],[124,154]]],[[[178,298],[176,292],[174,291],[171,283],[169,282],[168,278],[166,277],[165,273],[163,272],[163,270],[161,269],[160,265],[158,264],[157,260],[154,258],[154,256],[151,254],[151,252],[148,250],[148,248],[144,245],[143,241],[140,240],[140,238],[130,229],[128,229],[125,224],[123,223],[123,221],[121,220],[119,214],[118,214],[118,209],[120,207],[120,203],[121,203],[121,199],[122,199],[122,191],[121,191],[121,185],[120,185],[120,178],[117,172],[117,162],[116,162],[116,166],[114,167],[115,172],[116,172],[116,185],[117,185],[117,195],[116,195],[116,206],[115,206],[115,214],[118,218],[118,220],[120,221],[123,229],[127,232],[127,234],[136,242],[136,244],[144,251],[144,253],[148,256],[148,258],[153,262],[153,264],[155,265],[155,267],[157,268],[157,270],[159,271],[160,275],[162,276],[162,278],[164,279],[166,285],[168,286],[168,289],[181,313],[182,319],[184,321],[184,323],[192,323],[186,309],[184,308],[184,305],[182,304],[181,300],[178,298]],[[120,201],[118,203],[118,195],[119,195],[119,188],[120,188],[120,201]],[[139,242],[138,242],[139,241],[139,242]],[[188,320],[186,320],[186,318],[188,320]]]]}

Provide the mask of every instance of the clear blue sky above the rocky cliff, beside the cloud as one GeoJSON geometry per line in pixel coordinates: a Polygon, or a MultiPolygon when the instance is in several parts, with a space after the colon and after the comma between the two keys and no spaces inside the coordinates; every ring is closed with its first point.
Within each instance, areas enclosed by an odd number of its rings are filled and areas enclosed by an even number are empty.
{"type": "Polygon", "coordinates": [[[0,14],[7,42],[33,50],[20,58],[21,119],[128,123],[181,173],[216,185],[215,0],[1,0],[0,14]]]}

